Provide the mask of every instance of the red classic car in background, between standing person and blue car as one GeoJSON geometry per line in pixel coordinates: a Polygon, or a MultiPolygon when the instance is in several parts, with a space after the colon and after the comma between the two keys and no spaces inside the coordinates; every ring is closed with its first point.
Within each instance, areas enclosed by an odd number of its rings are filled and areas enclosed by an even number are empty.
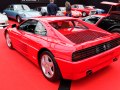
{"type": "Polygon", "coordinates": [[[81,12],[83,17],[96,14],[96,10],[94,8],[86,8],[82,4],[73,4],[72,10],[81,12]]]}

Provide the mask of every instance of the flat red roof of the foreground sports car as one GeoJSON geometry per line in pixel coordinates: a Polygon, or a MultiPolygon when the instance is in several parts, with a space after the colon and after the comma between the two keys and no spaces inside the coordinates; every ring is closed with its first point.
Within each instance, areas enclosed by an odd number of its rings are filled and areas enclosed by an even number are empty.
{"type": "Polygon", "coordinates": [[[38,18],[33,18],[36,20],[42,20],[42,21],[48,21],[48,22],[52,22],[52,21],[65,21],[65,20],[77,20],[76,18],[72,18],[72,17],[55,17],[55,16],[48,16],[48,17],[38,17],[38,18]]]}

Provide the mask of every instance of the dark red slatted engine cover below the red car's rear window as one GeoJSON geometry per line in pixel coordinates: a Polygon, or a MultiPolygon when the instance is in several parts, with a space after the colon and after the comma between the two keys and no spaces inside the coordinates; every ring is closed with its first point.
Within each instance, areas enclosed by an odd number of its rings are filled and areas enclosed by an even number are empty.
{"type": "Polygon", "coordinates": [[[65,37],[67,37],[69,40],[71,40],[75,44],[80,44],[80,43],[94,40],[96,38],[100,38],[106,35],[108,34],[86,30],[82,32],[75,32],[72,34],[68,34],[68,35],[65,35],[65,37]]]}

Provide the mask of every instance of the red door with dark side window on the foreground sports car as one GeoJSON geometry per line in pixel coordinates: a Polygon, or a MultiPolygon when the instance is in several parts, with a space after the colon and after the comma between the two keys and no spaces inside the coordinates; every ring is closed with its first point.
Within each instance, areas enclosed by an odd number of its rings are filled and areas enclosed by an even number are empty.
{"type": "Polygon", "coordinates": [[[18,32],[16,32],[16,42],[15,46],[18,51],[28,56],[28,46],[30,43],[31,35],[34,34],[34,29],[36,27],[37,21],[30,19],[18,26],[18,32]]]}

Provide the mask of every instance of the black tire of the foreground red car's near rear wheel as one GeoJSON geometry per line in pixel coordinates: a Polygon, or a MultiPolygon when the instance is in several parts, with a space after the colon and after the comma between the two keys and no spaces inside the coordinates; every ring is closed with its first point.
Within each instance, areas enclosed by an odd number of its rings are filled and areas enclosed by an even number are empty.
{"type": "MultiPolygon", "coordinates": [[[[41,70],[42,70],[42,73],[43,73],[44,77],[45,77],[47,80],[49,80],[49,81],[51,81],[51,82],[55,82],[55,81],[60,80],[60,78],[61,78],[61,73],[60,73],[59,67],[58,67],[58,65],[57,65],[57,63],[56,63],[56,61],[55,61],[55,59],[54,59],[54,56],[53,56],[49,51],[44,51],[44,52],[40,55],[39,65],[40,65],[40,68],[41,68],[41,70]],[[49,77],[48,75],[46,75],[46,74],[45,74],[45,71],[44,71],[44,69],[43,69],[43,68],[44,68],[44,65],[42,65],[42,61],[44,61],[45,58],[44,58],[44,60],[42,60],[42,58],[43,58],[45,55],[47,55],[48,57],[50,57],[51,59],[48,59],[48,60],[53,63],[53,67],[51,67],[50,70],[52,70],[54,73],[53,73],[53,75],[52,75],[51,77],[49,77]]],[[[45,66],[46,66],[47,68],[49,67],[48,64],[45,65],[45,66]]],[[[48,74],[50,74],[50,72],[48,72],[48,74]]]]}

